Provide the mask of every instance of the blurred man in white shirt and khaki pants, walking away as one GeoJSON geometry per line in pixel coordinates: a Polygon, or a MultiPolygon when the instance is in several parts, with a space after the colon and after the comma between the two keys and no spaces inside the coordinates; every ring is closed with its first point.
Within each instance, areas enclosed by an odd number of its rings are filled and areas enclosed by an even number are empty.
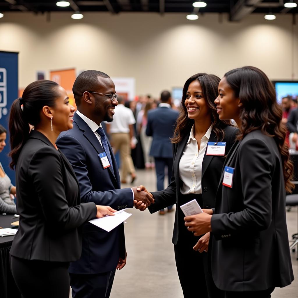
{"type": "Polygon", "coordinates": [[[131,158],[131,149],[136,147],[134,136],[134,114],[130,108],[126,108],[123,97],[118,97],[118,105],[114,109],[113,121],[106,122],[107,134],[110,134],[111,145],[114,154],[119,150],[121,158],[121,183],[126,183],[128,173],[131,175],[131,183],[136,179],[136,170],[131,158]]]}

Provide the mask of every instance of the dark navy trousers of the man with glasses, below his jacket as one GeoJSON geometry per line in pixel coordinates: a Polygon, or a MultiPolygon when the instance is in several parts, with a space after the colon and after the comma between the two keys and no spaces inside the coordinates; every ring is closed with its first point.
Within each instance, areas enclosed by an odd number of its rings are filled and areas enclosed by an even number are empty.
{"type": "Polygon", "coordinates": [[[98,274],[69,273],[73,298],[108,298],[116,269],[98,274]]]}

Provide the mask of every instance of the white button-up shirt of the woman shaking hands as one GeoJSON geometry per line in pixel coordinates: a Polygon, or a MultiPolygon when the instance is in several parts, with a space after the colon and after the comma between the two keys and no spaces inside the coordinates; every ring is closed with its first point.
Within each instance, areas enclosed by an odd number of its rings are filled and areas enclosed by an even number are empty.
{"type": "Polygon", "coordinates": [[[200,150],[198,150],[198,142],[193,134],[195,125],[191,128],[189,139],[179,162],[179,176],[182,180],[180,192],[183,195],[202,193],[202,162],[210,139],[212,126],[209,127],[206,134],[202,137],[200,150]]]}

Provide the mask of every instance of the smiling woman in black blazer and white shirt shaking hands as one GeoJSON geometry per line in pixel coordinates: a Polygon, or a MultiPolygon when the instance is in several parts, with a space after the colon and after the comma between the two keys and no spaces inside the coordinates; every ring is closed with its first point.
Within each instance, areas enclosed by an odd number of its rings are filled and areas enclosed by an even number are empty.
{"type": "MultiPolygon", "coordinates": [[[[220,121],[216,113],[214,99],[219,81],[215,75],[199,73],[184,84],[181,113],[172,139],[174,162],[171,183],[165,190],[151,193],[155,203],[149,207],[150,213],[176,204],[172,242],[184,297],[193,297],[196,289],[201,298],[222,296],[207,271],[210,233],[200,240],[188,233],[180,209],[181,205],[193,199],[201,208],[214,207],[224,156],[235,141],[238,129],[229,121],[220,121]],[[221,156],[214,152],[207,155],[208,142],[213,142],[213,145],[225,142],[225,152],[221,156]]],[[[143,186],[139,188],[145,189],[143,186]]]]}

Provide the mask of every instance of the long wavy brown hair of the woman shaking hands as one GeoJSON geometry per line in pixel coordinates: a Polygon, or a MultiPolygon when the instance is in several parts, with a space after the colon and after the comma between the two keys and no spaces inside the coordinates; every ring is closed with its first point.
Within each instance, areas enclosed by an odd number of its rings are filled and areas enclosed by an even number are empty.
{"type": "Polygon", "coordinates": [[[194,80],[198,80],[203,91],[203,97],[206,101],[207,106],[211,109],[211,119],[213,123],[213,130],[215,131],[217,141],[220,142],[224,139],[225,131],[224,127],[226,125],[231,125],[228,120],[221,121],[218,118],[216,104],[214,103],[215,98],[218,96],[218,83],[220,78],[216,75],[208,75],[206,73],[198,73],[191,76],[184,84],[182,99],[180,103],[181,112],[176,122],[176,128],[174,131],[174,136],[171,139],[172,143],[179,143],[181,140],[189,134],[193,124],[195,123],[193,119],[188,118],[187,108],[185,106],[186,93],[188,86],[194,80]]]}

